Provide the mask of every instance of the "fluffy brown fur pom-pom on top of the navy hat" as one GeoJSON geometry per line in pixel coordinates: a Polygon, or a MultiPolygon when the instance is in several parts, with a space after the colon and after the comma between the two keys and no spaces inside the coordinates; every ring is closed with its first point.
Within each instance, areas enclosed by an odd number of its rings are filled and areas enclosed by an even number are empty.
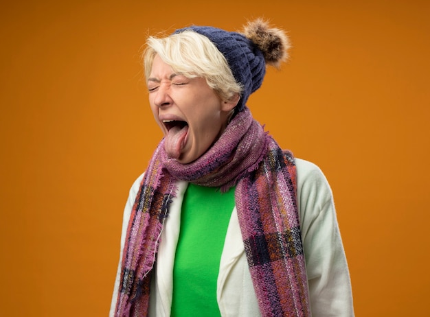
{"type": "Polygon", "coordinates": [[[241,32],[263,52],[267,64],[279,67],[288,58],[287,50],[291,46],[285,32],[270,27],[267,21],[256,19],[245,25],[241,32]]]}

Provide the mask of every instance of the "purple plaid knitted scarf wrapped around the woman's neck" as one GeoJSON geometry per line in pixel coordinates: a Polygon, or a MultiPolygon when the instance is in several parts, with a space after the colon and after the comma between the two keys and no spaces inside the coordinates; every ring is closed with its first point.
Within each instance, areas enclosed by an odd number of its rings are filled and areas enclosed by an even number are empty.
{"type": "Polygon", "coordinates": [[[196,161],[155,150],[131,212],[115,316],[148,316],[150,273],[176,181],[226,190],[235,202],[262,316],[310,316],[293,155],[282,152],[245,107],[196,161]]]}

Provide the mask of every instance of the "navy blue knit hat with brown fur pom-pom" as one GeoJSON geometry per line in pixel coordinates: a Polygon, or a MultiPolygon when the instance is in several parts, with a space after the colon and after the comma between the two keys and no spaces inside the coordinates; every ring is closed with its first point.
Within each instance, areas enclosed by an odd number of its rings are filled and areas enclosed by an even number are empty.
{"type": "Polygon", "coordinates": [[[210,26],[184,27],[174,34],[193,30],[209,38],[225,56],[236,82],[242,84],[243,92],[236,106],[241,111],[249,95],[260,88],[266,63],[279,67],[287,58],[289,41],[286,34],[277,28],[269,27],[262,19],[256,19],[245,25],[242,32],[228,32],[210,26]]]}

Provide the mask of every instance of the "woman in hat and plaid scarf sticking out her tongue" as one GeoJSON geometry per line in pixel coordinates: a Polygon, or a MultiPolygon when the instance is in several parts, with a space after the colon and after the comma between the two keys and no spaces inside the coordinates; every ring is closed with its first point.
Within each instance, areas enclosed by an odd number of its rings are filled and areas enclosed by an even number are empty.
{"type": "Polygon", "coordinates": [[[147,41],[164,138],[131,188],[111,316],[353,316],[330,187],[252,118],[284,32],[185,27],[147,41]]]}

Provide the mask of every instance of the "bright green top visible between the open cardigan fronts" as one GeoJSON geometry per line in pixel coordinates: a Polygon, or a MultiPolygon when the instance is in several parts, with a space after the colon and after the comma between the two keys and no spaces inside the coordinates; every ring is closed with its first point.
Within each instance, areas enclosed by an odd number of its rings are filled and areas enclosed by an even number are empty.
{"type": "Polygon", "coordinates": [[[234,208],[234,188],[188,185],[174,257],[173,317],[220,316],[216,281],[225,234],[234,208]]]}

